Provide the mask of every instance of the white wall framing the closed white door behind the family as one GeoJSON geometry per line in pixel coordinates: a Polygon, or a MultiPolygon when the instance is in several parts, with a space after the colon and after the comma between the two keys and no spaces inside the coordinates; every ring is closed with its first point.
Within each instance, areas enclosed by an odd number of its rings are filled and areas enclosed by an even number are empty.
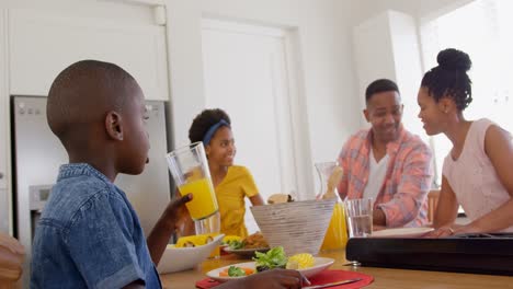
{"type": "MultiPolygon", "coordinates": [[[[201,19],[278,26],[298,35],[299,86],[309,162],[334,160],[358,127],[347,1],[168,0],[171,97],[175,144],[187,143],[193,117],[205,106],[201,19]]],[[[312,164],[308,164],[312,170],[312,164]]],[[[314,171],[311,171],[312,180],[314,171]]]]}

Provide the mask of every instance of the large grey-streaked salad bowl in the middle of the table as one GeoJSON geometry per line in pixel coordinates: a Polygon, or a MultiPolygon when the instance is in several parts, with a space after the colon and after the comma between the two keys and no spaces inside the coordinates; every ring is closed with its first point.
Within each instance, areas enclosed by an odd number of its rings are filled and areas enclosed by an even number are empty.
{"type": "Polygon", "coordinates": [[[290,256],[319,253],[333,215],[335,199],[301,200],[251,207],[271,247],[283,246],[290,256]]]}

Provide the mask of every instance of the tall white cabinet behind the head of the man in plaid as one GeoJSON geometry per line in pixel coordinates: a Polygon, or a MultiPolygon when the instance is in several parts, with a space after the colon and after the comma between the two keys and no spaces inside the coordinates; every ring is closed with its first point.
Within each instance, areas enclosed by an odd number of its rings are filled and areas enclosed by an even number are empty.
{"type": "Polygon", "coordinates": [[[417,117],[422,68],[414,19],[390,10],[371,18],[355,26],[354,47],[361,94],[375,79],[395,80],[404,105],[402,123],[408,130],[426,137],[417,117]]]}

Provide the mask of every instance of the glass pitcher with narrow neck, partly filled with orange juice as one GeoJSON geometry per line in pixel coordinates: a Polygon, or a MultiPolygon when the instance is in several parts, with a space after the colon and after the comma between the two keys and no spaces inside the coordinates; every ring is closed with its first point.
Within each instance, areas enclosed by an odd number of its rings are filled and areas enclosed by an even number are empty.
{"type": "Polygon", "coordinates": [[[343,174],[342,167],[337,162],[322,162],[316,163],[316,169],[321,184],[318,197],[323,199],[337,198],[338,200],[333,207],[333,215],[331,216],[321,250],[345,247],[347,243],[347,229],[345,226],[344,205],[337,192],[337,186],[343,174]]]}

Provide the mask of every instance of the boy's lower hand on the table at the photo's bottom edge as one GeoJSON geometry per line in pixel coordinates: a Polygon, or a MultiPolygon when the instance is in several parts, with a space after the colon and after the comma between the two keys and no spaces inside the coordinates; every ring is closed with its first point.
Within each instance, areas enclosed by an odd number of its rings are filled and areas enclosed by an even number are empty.
{"type": "MultiPolygon", "coordinates": [[[[240,284],[227,282],[223,288],[301,288],[309,286],[310,281],[297,270],[273,269],[250,275],[240,284]]],[[[219,287],[220,288],[220,287],[219,287]]]]}

